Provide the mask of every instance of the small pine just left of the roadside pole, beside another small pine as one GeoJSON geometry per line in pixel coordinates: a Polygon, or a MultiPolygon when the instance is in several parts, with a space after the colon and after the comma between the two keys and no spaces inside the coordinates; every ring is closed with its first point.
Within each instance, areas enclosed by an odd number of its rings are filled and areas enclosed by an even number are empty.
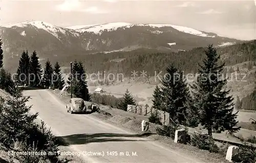
{"type": "Polygon", "coordinates": [[[56,62],[54,65],[54,82],[53,82],[54,88],[61,90],[64,84],[65,82],[62,77],[59,63],[56,62]]]}

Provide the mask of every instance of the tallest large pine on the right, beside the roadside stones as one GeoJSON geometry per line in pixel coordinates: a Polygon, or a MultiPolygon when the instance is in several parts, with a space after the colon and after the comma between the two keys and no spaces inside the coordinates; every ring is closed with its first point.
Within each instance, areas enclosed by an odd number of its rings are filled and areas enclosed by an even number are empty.
{"type": "Polygon", "coordinates": [[[237,113],[233,114],[234,103],[230,90],[222,91],[227,84],[227,80],[218,76],[223,71],[224,64],[218,65],[216,49],[209,45],[205,50],[206,58],[203,65],[199,65],[199,76],[194,82],[193,97],[197,109],[199,110],[199,122],[208,130],[208,135],[212,135],[212,130],[235,132],[233,129],[238,123],[237,113]]]}

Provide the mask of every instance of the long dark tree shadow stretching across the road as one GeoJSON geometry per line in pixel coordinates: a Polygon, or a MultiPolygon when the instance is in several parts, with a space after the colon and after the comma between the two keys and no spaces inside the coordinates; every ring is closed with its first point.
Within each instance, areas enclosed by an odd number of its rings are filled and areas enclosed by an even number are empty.
{"type": "Polygon", "coordinates": [[[145,138],[154,133],[146,132],[142,134],[123,134],[123,133],[93,133],[93,134],[72,134],[56,137],[62,146],[100,143],[100,142],[127,142],[127,141],[146,141],[132,138],[145,138]],[[130,139],[129,139],[130,138],[130,139]],[[67,142],[67,143],[66,143],[67,142]]]}

